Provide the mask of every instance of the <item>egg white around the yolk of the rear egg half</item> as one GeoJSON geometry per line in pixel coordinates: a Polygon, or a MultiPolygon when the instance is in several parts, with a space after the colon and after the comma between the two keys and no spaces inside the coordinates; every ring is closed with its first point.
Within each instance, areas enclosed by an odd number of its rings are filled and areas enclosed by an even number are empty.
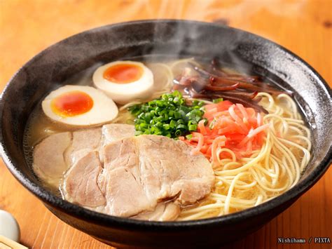
{"type": "Polygon", "coordinates": [[[98,67],[92,79],[98,89],[104,91],[112,100],[121,105],[125,105],[134,100],[145,100],[151,95],[153,88],[153,74],[151,70],[141,62],[133,62],[130,60],[111,62],[102,67],[98,67]],[[143,69],[141,78],[130,83],[116,83],[104,79],[106,69],[119,64],[131,64],[141,67],[141,69],[143,69]]]}

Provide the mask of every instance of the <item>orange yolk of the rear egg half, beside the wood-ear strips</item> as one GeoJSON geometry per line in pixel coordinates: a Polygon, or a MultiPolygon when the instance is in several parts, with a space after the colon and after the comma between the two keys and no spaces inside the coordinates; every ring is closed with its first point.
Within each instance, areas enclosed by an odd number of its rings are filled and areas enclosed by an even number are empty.
{"type": "Polygon", "coordinates": [[[117,64],[105,70],[104,79],[114,83],[130,83],[141,78],[143,69],[138,65],[117,64]]]}

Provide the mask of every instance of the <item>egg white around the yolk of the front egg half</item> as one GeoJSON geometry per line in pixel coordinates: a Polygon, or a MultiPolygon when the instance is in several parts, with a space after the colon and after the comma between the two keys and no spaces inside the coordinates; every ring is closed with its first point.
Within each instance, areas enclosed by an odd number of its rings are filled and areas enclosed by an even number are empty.
{"type": "Polygon", "coordinates": [[[101,90],[91,86],[62,86],[50,92],[41,103],[41,107],[48,118],[71,126],[94,126],[112,121],[118,116],[118,107],[113,100],[101,90]],[[53,112],[51,102],[55,97],[76,90],[86,93],[92,98],[93,106],[88,112],[68,117],[59,116],[53,112]]]}

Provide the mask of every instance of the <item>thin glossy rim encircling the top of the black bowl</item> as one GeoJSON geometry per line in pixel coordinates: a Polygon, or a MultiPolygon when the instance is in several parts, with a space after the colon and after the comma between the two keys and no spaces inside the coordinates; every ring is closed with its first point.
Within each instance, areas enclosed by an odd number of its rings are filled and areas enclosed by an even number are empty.
{"type": "Polygon", "coordinates": [[[237,29],[234,27],[226,27],[217,25],[213,22],[202,22],[202,21],[196,21],[196,20],[181,20],[181,19],[151,19],[151,20],[134,20],[129,22],[118,22],[111,25],[104,25],[101,27],[95,27],[93,29],[88,29],[83,32],[80,32],[78,34],[74,34],[73,36],[69,36],[66,39],[62,39],[61,41],[57,41],[57,43],[54,43],[51,46],[48,46],[48,48],[44,49],[43,51],[37,53],[34,55],[33,58],[31,58],[28,62],[25,63],[20,69],[18,69],[15,74],[11,77],[11,79],[8,81],[6,86],[4,87],[4,90],[2,91],[0,95],[0,154],[1,157],[6,164],[7,168],[11,171],[11,173],[14,175],[14,177],[22,184],[26,189],[28,189],[32,194],[34,194],[36,197],[38,197],[43,203],[47,206],[51,206],[52,208],[55,208],[57,210],[61,210],[64,213],[67,213],[67,215],[71,215],[74,217],[77,217],[78,219],[85,220],[86,222],[91,222],[93,224],[102,224],[106,227],[118,227],[118,228],[125,228],[125,229],[150,229],[153,231],[156,231],[155,229],[160,230],[169,230],[169,229],[198,229],[202,227],[214,227],[219,224],[230,224],[235,222],[242,222],[244,220],[247,220],[250,217],[254,217],[256,215],[261,215],[265,212],[268,212],[268,210],[272,210],[273,208],[276,208],[277,206],[281,206],[282,204],[294,200],[296,198],[299,198],[302,194],[305,193],[308,189],[310,189],[318,180],[319,178],[324,175],[326,170],[329,168],[332,162],[332,144],[330,143],[330,148],[328,149],[326,156],[321,160],[317,168],[314,168],[312,170],[312,173],[307,175],[305,180],[302,180],[301,182],[298,182],[294,187],[289,189],[288,191],[284,192],[283,194],[272,198],[270,201],[266,201],[265,203],[261,203],[259,206],[247,208],[245,210],[242,210],[237,213],[231,213],[228,215],[223,215],[220,217],[212,217],[208,219],[202,219],[202,220],[189,220],[189,221],[172,221],[172,222],[155,222],[155,221],[146,221],[146,220],[134,220],[130,218],[125,217],[116,217],[111,215],[106,215],[103,213],[97,213],[92,210],[88,210],[86,208],[83,208],[81,206],[78,206],[74,203],[69,203],[68,201],[63,200],[62,198],[53,195],[50,191],[43,189],[39,184],[35,184],[34,182],[30,181],[27,177],[25,177],[25,174],[22,173],[20,170],[20,167],[15,166],[11,161],[11,156],[8,154],[8,151],[6,149],[6,144],[4,144],[3,140],[3,127],[2,127],[2,116],[4,111],[4,96],[6,97],[6,93],[8,92],[8,88],[11,87],[11,82],[13,79],[15,79],[15,76],[17,74],[20,74],[20,72],[27,66],[34,63],[34,60],[37,58],[43,56],[47,51],[51,50],[53,47],[57,46],[60,43],[64,43],[65,41],[72,39],[76,36],[81,36],[83,34],[93,33],[93,32],[100,32],[108,29],[113,29],[116,27],[123,27],[126,25],[139,25],[139,24],[146,24],[146,23],[165,23],[165,24],[172,24],[172,23],[194,23],[198,25],[207,25],[210,27],[223,27],[224,29],[232,29],[235,32],[239,32],[242,34],[245,34],[246,36],[254,37],[255,39],[258,39],[260,41],[267,41],[273,46],[276,46],[277,48],[281,49],[282,51],[285,51],[287,54],[291,55],[291,57],[296,58],[298,62],[300,62],[300,66],[306,68],[307,72],[310,72],[311,74],[314,74],[314,76],[317,76],[321,86],[326,89],[328,95],[331,99],[331,88],[328,86],[326,81],[318,74],[316,70],[314,70],[310,65],[307,64],[304,60],[298,57],[298,55],[294,54],[293,52],[289,51],[287,48],[284,48],[283,46],[280,46],[279,44],[275,43],[274,41],[270,41],[269,39],[264,38],[263,36],[258,36],[257,34],[253,34],[251,32],[244,31],[242,29],[237,29]]]}

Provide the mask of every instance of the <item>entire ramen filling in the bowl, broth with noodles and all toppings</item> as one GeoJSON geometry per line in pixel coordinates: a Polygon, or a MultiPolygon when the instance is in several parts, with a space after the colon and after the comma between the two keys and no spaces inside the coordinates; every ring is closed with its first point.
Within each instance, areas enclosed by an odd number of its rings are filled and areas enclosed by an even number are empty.
{"type": "Polygon", "coordinates": [[[216,59],[98,64],[63,85],[32,112],[25,155],[44,187],[90,210],[227,215],[284,193],[310,161],[292,93],[216,59]]]}

